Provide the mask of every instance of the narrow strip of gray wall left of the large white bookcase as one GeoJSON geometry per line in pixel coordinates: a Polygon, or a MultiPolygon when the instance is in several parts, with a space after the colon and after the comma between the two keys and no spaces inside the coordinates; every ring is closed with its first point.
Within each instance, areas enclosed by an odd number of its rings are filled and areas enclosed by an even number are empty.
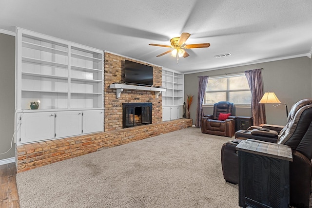
{"type": "MultiPolygon", "coordinates": [[[[0,153],[11,147],[15,109],[15,37],[0,33],[0,153]]],[[[15,145],[0,160],[15,156],[15,145]]]]}

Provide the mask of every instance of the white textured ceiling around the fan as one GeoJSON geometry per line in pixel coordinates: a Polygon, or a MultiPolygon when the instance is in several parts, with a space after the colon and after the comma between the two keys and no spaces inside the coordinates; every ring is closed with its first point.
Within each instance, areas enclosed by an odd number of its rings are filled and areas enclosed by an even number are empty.
{"type": "Polygon", "coordinates": [[[312,53],[312,0],[0,0],[0,28],[15,26],[180,72],[312,53]],[[182,32],[186,44],[211,46],[187,49],[177,64],[148,45],[182,32]]]}

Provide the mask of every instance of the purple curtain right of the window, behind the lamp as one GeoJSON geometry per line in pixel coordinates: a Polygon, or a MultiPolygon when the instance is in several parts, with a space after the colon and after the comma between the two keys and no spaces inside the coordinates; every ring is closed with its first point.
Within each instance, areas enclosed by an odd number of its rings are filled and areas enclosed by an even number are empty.
{"type": "Polygon", "coordinates": [[[265,116],[265,107],[258,102],[263,96],[263,84],[261,69],[247,70],[245,71],[250,91],[252,93],[252,115],[254,125],[259,126],[267,122],[265,116]]]}

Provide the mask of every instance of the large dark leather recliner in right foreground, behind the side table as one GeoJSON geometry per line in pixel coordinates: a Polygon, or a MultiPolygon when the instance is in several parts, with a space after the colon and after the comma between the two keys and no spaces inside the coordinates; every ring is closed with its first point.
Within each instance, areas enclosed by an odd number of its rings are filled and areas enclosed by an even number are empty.
{"type": "MultiPolygon", "coordinates": [[[[221,149],[223,177],[227,182],[238,184],[238,154],[235,147],[242,139],[288,145],[292,148],[293,159],[290,162],[290,203],[295,207],[308,207],[312,177],[312,99],[294,104],[287,121],[279,134],[273,130],[266,132],[257,129],[236,132],[236,139],[226,142],[221,149]]],[[[278,130],[276,126],[273,128],[278,130]]]]}

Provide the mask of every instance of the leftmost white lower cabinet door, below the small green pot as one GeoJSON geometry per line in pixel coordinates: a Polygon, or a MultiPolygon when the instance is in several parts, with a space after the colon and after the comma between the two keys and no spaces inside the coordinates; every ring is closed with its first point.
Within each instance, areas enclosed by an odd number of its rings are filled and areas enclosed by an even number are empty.
{"type": "Polygon", "coordinates": [[[54,138],[54,113],[38,112],[38,113],[19,113],[20,144],[37,142],[41,140],[54,138]]]}

